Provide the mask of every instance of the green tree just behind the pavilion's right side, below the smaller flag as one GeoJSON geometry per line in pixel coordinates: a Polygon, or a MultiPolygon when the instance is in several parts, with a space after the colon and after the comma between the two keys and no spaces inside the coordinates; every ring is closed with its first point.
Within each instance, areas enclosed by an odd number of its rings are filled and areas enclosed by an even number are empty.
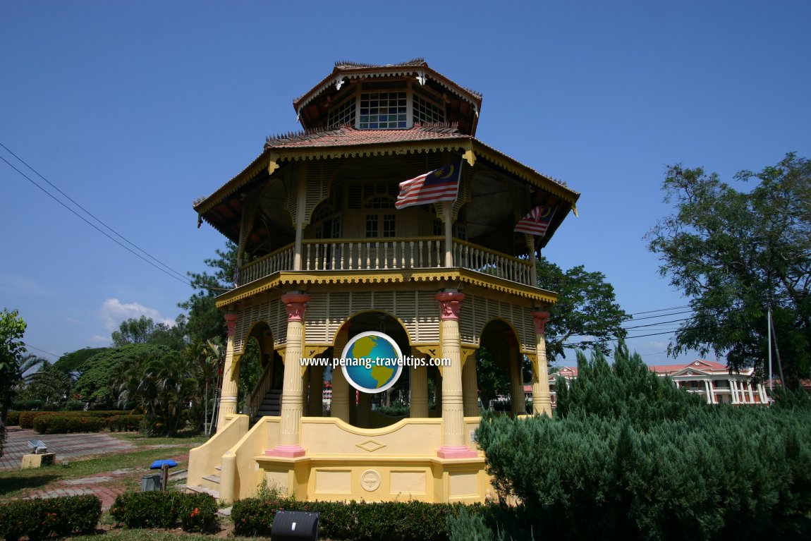
{"type": "Polygon", "coordinates": [[[624,338],[622,322],[631,316],[616,303],[614,287],[603,273],[586,271],[582,265],[567,271],[539,257],[538,286],[558,294],[546,327],[547,355],[554,361],[566,357],[567,348],[597,346],[609,351],[607,341],[624,338]],[[567,343],[578,337],[574,344],[567,343]]]}

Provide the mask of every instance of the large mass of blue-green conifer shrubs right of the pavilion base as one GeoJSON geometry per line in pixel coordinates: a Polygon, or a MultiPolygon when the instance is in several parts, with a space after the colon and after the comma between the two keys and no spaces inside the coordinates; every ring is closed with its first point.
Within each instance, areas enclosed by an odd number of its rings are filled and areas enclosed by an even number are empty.
{"type": "MultiPolygon", "coordinates": [[[[555,539],[809,539],[811,408],[708,405],[624,346],[578,355],[556,418],[487,415],[502,496],[555,539]]],[[[788,403],[788,401],[787,401],[788,403]]]]}

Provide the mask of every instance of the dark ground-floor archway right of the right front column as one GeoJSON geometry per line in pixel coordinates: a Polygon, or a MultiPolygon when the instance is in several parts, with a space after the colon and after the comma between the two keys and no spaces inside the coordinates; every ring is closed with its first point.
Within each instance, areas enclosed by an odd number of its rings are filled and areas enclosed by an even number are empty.
{"type": "Polygon", "coordinates": [[[481,336],[475,367],[482,407],[526,414],[524,389],[531,371],[521,354],[515,331],[504,320],[491,320],[481,336]]]}

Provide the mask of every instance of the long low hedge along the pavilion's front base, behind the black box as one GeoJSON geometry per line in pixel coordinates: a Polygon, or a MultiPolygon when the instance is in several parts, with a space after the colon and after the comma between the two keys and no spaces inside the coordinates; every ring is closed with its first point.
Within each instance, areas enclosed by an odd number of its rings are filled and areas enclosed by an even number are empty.
{"type": "MultiPolygon", "coordinates": [[[[319,532],[325,539],[353,541],[446,541],[448,514],[461,505],[422,501],[296,501],[292,498],[247,498],[234,502],[231,519],[235,535],[270,535],[277,510],[320,513],[319,532]]],[[[482,506],[467,509],[479,513],[482,506]]]]}

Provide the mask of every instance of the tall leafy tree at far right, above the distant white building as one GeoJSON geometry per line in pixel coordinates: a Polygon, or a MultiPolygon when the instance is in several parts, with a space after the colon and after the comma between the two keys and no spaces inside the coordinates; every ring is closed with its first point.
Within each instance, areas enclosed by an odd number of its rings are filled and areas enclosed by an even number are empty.
{"type": "Polygon", "coordinates": [[[733,370],[767,357],[766,313],[773,311],[783,382],[796,389],[811,375],[811,162],[794,154],[738,191],[702,168],[672,165],[663,183],[675,213],[647,234],[659,272],[690,300],[672,354],[698,350],[725,356],[733,370]]]}

